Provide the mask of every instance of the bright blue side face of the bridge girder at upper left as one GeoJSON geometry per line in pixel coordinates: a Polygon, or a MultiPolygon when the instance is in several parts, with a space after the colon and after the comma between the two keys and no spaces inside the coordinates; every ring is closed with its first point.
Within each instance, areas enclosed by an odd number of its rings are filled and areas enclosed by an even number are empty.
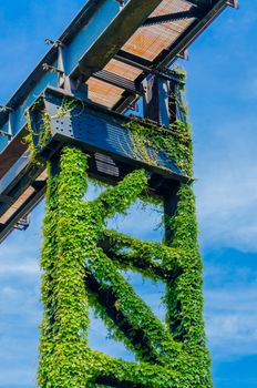
{"type": "MultiPolygon", "coordinates": [[[[127,2],[127,0],[126,0],[127,2]]],[[[64,72],[69,75],[78,65],[79,60],[99,39],[102,32],[120,13],[120,4],[113,0],[89,0],[80,11],[78,17],[68,27],[64,33],[59,38],[59,42],[63,44],[63,62],[64,72]],[[103,18],[102,14],[105,14],[103,18]]],[[[30,108],[48,85],[58,85],[58,74],[43,71],[43,63],[58,67],[56,45],[53,45],[47,55],[40,61],[34,71],[18,89],[16,94],[6,104],[12,109],[12,112],[0,113],[0,129],[12,135],[22,129],[25,123],[25,110],[30,108]],[[10,116],[10,123],[8,122],[10,116]]],[[[8,142],[0,137],[0,152],[8,142]]]]}

